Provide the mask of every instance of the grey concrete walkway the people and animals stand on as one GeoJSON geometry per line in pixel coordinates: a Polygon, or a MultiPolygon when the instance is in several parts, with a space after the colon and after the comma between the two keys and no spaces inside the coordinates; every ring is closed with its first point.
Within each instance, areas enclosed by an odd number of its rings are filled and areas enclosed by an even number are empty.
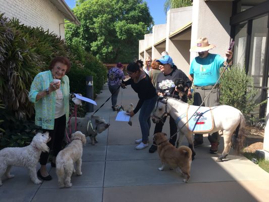
{"type": "MultiPolygon", "coordinates": [[[[121,91],[124,93],[120,92],[118,104],[137,104],[137,94],[131,87],[121,91]]],[[[96,98],[98,106],[109,96],[104,85],[96,98]]],[[[83,150],[83,174],[72,176],[71,188],[58,188],[56,169],[50,164],[47,167],[53,179],[39,185],[30,181],[25,169],[14,167],[15,178],[4,180],[0,187],[0,201],[269,201],[269,174],[246,158],[234,156],[233,151],[227,161],[217,163],[219,154],[209,154],[209,142],[204,138],[204,146],[196,148],[190,181],[184,183],[173,170],[158,171],[157,153],[134,148],[134,140],[141,138],[138,114],[133,117],[133,126],[116,122],[117,113],[109,100],[97,115],[111,126],[97,136],[96,145],[88,139],[83,150]]],[[[153,129],[152,123],[151,142],[153,129]]],[[[164,132],[169,133],[168,121],[164,132]]],[[[187,145],[186,138],[183,144],[187,145]]],[[[222,149],[223,138],[219,151],[222,149]]]]}

